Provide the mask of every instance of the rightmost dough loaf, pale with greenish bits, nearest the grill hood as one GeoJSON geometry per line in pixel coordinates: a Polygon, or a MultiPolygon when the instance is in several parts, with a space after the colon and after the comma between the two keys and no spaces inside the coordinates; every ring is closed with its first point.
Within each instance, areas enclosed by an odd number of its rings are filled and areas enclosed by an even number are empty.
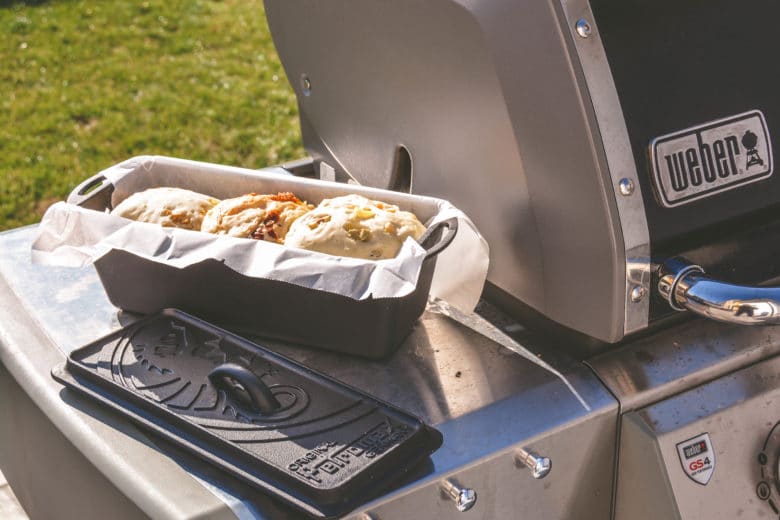
{"type": "Polygon", "coordinates": [[[285,245],[320,253],[380,260],[398,254],[406,237],[425,232],[417,217],[398,206],[345,195],[323,200],[290,228],[285,245]]]}

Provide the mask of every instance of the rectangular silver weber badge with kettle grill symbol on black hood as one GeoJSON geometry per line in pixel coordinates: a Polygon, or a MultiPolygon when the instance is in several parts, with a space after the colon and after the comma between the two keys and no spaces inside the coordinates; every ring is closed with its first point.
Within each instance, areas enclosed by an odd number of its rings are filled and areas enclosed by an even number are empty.
{"type": "Polygon", "coordinates": [[[758,110],[667,134],[651,144],[656,192],[679,206],[772,175],[772,146],[758,110]]]}

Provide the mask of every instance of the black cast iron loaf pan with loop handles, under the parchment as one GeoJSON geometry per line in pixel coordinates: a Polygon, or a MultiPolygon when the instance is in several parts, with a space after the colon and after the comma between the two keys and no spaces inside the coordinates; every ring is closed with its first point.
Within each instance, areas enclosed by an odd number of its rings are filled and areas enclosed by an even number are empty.
{"type": "MultiPolygon", "coordinates": [[[[113,185],[100,174],[76,187],[68,202],[111,209],[113,185]]],[[[220,326],[262,337],[379,359],[392,354],[425,310],[436,256],[457,233],[457,220],[431,226],[420,244],[427,254],[413,292],[355,300],[277,280],[237,273],[218,260],[178,269],[112,250],[95,268],[111,303],[149,314],[177,308],[220,326]]]]}

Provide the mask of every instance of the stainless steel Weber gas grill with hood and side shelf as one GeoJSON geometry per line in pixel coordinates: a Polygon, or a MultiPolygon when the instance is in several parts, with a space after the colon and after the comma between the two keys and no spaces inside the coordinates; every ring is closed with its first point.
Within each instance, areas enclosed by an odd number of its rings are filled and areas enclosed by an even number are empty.
{"type": "Polygon", "coordinates": [[[242,334],[438,432],[435,451],[355,484],[348,512],[302,508],[63,390],[68,355],[144,322],[93,268],[31,264],[22,228],[0,235],[0,467],[32,516],[780,517],[777,5],[265,7],[311,154],[288,173],[450,200],[490,271],[474,313],[430,301],[383,359],[242,334]]]}

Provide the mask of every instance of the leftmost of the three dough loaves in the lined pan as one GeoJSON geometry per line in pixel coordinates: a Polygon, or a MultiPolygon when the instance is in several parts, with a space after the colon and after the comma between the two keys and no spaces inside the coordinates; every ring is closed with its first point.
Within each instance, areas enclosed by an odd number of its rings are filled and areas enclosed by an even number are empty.
{"type": "Polygon", "coordinates": [[[218,203],[214,197],[181,188],[149,188],[133,193],[111,213],[165,227],[198,231],[203,216],[218,203]]]}

